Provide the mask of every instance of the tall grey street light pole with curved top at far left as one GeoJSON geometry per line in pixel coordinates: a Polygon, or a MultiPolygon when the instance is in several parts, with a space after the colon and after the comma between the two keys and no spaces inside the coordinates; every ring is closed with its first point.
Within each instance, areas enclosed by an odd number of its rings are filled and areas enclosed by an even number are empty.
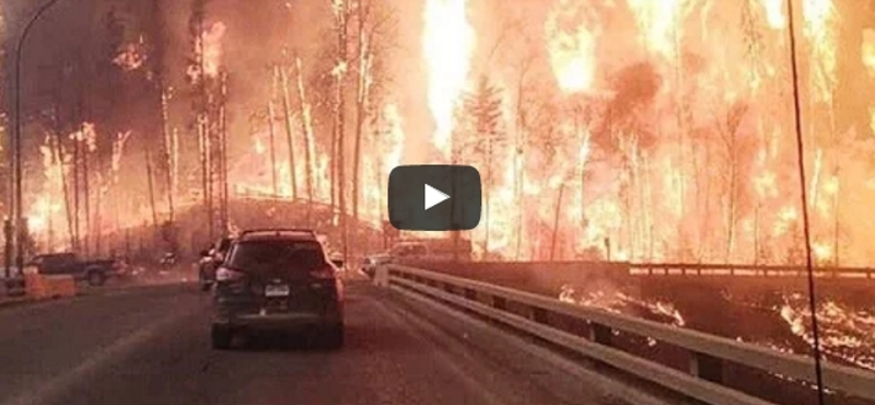
{"type": "Polygon", "coordinates": [[[13,212],[14,216],[12,218],[15,222],[15,266],[19,268],[19,271],[24,269],[24,204],[22,198],[22,118],[21,118],[21,66],[22,66],[22,49],[24,48],[24,40],[27,39],[27,34],[31,32],[31,28],[34,24],[39,20],[43,14],[50,9],[52,5],[58,3],[60,0],[49,0],[47,3],[39,7],[39,10],[34,13],[27,24],[24,26],[24,30],[19,36],[19,42],[15,45],[15,125],[14,125],[14,134],[12,139],[14,141],[13,150],[14,150],[14,160],[13,164],[15,166],[15,204],[13,205],[13,212]]]}

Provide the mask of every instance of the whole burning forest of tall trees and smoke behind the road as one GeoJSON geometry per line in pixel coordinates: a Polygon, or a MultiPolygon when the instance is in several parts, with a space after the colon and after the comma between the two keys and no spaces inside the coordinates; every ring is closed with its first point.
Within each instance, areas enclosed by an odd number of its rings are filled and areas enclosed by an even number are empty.
{"type": "MultiPolygon", "coordinates": [[[[7,112],[36,3],[0,9],[7,112]]],[[[875,259],[874,3],[794,0],[820,264],[875,259]]],[[[61,0],[23,59],[28,229],[100,251],[198,207],[214,235],[244,197],[378,229],[392,167],[465,163],[482,258],[798,264],[789,22],[784,0],[61,0]]]]}

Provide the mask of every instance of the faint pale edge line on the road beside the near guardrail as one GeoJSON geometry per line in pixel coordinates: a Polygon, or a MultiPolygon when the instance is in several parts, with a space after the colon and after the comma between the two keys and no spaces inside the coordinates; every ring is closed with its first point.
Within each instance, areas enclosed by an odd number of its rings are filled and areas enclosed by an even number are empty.
{"type": "MultiPolygon", "coordinates": [[[[483,321],[468,316],[459,311],[452,310],[446,305],[442,305],[438,302],[434,302],[432,299],[422,297],[416,292],[408,292],[400,289],[393,289],[393,292],[399,292],[405,298],[412,299],[428,306],[431,306],[435,311],[440,311],[448,316],[455,317],[464,323],[467,323],[482,333],[493,333],[493,334],[499,333],[499,331],[497,331],[493,326],[490,326],[483,321]]],[[[581,381],[590,382],[592,385],[602,390],[603,396],[611,396],[635,405],[672,405],[670,403],[662,398],[655,397],[649,393],[637,390],[630,386],[629,384],[611,380],[610,378],[604,374],[586,369],[585,367],[575,363],[574,361],[567,359],[561,355],[556,354],[547,348],[530,344],[525,339],[523,339],[522,337],[512,334],[501,334],[501,336],[503,336],[503,338],[505,338],[509,343],[513,344],[518,349],[525,350],[532,356],[551,362],[553,366],[558,367],[559,369],[571,375],[574,375],[581,381]]]]}

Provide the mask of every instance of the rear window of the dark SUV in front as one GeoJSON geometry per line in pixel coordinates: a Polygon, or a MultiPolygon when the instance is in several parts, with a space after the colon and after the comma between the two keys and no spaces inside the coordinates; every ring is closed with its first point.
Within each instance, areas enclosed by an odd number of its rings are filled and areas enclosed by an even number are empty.
{"type": "Polygon", "coordinates": [[[241,241],[231,248],[225,265],[246,273],[280,268],[308,271],[326,262],[322,245],[315,241],[241,241]]]}

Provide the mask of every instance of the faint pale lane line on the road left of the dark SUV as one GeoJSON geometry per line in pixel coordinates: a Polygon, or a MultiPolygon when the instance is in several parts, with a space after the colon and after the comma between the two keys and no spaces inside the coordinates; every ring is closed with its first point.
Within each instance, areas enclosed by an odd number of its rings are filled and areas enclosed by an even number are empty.
{"type": "Polygon", "coordinates": [[[162,328],[167,327],[184,317],[194,315],[199,310],[199,306],[192,306],[188,311],[176,312],[173,314],[173,316],[168,316],[130,335],[121,337],[112,345],[90,356],[88,360],[83,361],[72,370],[49,379],[43,383],[42,386],[34,389],[33,392],[21,394],[15,398],[5,402],[4,404],[32,405],[50,403],[52,400],[56,400],[57,396],[68,392],[73,386],[79,385],[79,383],[88,379],[90,374],[95,373],[114,361],[118,361],[126,355],[131,354],[137,346],[140,346],[143,343],[156,337],[162,328]]]}

